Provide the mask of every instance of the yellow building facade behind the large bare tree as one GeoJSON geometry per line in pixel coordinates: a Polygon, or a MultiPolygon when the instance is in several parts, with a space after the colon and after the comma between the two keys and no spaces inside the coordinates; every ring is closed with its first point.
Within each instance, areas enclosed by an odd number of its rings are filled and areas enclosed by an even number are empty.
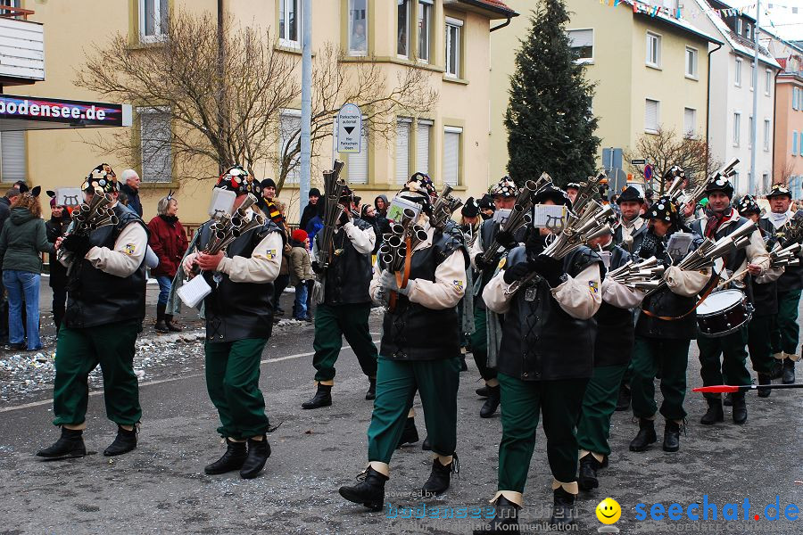
{"type": "MultiPolygon", "coordinates": [[[[36,12],[30,19],[45,27],[46,79],[32,86],[7,88],[7,92],[108,101],[103,95],[73,85],[93,46],[103,46],[115,32],[128,34],[135,48],[158,45],[161,17],[170,10],[216,13],[217,4],[216,0],[22,0],[21,7],[36,12]]],[[[458,192],[486,189],[490,159],[490,29],[494,21],[499,24],[516,13],[497,0],[314,0],[312,5],[313,53],[331,44],[344,51],[342,62],[377,62],[388,85],[393,85],[401,70],[420,69],[438,94],[437,103],[426,114],[395,118],[396,136],[391,140],[373,136],[368,128],[363,147],[366,152],[338,155],[346,162],[346,178],[355,193],[364,202],[371,202],[379,193],[398,190],[402,173],[409,177],[416,171],[428,172],[438,186],[451,182],[458,192]]],[[[302,0],[224,0],[223,6],[243,26],[270,29],[278,37],[277,49],[297,54],[300,60],[302,0]]],[[[300,80],[300,62],[296,74],[300,80]]],[[[135,109],[132,135],[136,135],[137,128],[143,127],[137,117],[138,103],[131,104],[135,109]]],[[[287,117],[300,120],[300,108],[299,102],[294,109],[286,110],[287,117]]],[[[29,184],[42,185],[43,190],[75,187],[89,169],[108,161],[118,176],[123,169],[131,168],[144,178],[140,196],[146,220],[155,215],[156,202],[170,189],[178,198],[182,221],[199,223],[207,218],[211,180],[178,182],[172,178],[181,175],[178,169],[171,169],[171,177],[148,177],[141,162],[118,161],[85,143],[98,132],[102,136],[113,135],[112,129],[26,132],[24,164],[29,184]]],[[[281,132],[277,132],[278,136],[281,132]]],[[[329,139],[321,144],[313,169],[329,169],[332,156],[333,143],[329,139]]],[[[263,168],[259,179],[277,177],[275,163],[266,163],[263,168]]],[[[217,165],[210,162],[209,175],[216,170],[217,165]]],[[[313,174],[312,185],[320,187],[319,175],[313,174]]],[[[286,183],[279,199],[290,203],[288,220],[297,221],[297,185],[286,183]]]]}

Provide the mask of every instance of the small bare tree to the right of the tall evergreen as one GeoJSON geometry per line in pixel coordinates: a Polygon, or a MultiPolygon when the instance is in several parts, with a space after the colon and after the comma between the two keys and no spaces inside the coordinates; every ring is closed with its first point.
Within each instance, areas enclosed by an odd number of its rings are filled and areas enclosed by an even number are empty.
{"type": "MultiPolygon", "coordinates": [[[[656,134],[644,134],[636,142],[635,149],[625,150],[625,159],[644,159],[653,168],[652,187],[658,194],[664,193],[669,184],[664,184],[664,173],[673,165],[680,166],[689,178],[689,184],[706,180],[706,169],[718,169],[711,156],[708,143],[702,137],[677,136],[674,129],[658,127],[656,134]]],[[[631,165],[634,174],[644,177],[644,168],[631,165]]]]}

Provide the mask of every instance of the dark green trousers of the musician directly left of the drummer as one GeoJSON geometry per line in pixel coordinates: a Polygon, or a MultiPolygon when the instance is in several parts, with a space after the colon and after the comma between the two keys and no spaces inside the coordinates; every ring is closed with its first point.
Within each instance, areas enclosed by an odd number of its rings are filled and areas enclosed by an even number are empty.
{"type": "Polygon", "coordinates": [[[691,340],[635,337],[633,346],[633,378],[630,389],[633,416],[651,418],[658,410],[655,402],[655,376],[661,370],[661,415],[667,420],[683,420],[686,411],[686,367],[689,365],[691,340]]]}

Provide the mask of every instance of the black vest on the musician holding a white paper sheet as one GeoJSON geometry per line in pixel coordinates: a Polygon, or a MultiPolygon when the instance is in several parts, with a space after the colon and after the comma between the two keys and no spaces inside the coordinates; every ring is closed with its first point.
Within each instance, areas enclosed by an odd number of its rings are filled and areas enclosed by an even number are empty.
{"type": "MultiPolygon", "coordinates": [[[[211,221],[201,226],[198,250],[209,243],[211,221]]],[[[253,228],[229,243],[226,256],[251,258],[253,250],[279,227],[268,220],[264,226],[253,228]]],[[[284,239],[282,240],[284,244],[284,239]]],[[[281,255],[282,251],[276,251],[281,255]]],[[[235,283],[221,272],[203,272],[212,292],[203,300],[206,317],[206,340],[236,342],[246,338],[270,338],[273,329],[273,283],[235,283]]]]}

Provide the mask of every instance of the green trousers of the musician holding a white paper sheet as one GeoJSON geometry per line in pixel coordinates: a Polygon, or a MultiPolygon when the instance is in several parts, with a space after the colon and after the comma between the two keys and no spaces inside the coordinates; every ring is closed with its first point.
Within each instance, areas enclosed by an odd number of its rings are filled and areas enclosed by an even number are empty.
{"type": "Polygon", "coordinates": [[[218,409],[220,436],[244,440],[267,432],[260,360],[267,338],[206,342],[206,390],[218,409]]]}

